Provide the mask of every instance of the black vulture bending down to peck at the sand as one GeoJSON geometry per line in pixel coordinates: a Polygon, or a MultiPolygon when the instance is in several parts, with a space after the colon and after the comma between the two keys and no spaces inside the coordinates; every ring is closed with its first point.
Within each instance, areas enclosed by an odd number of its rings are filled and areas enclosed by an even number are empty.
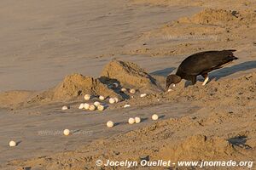
{"type": "Polygon", "coordinates": [[[208,72],[228,65],[232,60],[238,59],[233,52],[236,49],[228,49],[222,51],[204,51],[197,54],[192,54],[178,66],[175,75],[168,75],[166,78],[166,90],[173,83],[173,86],[182,79],[189,80],[194,85],[196,77],[201,75],[205,78],[202,85],[206,85],[209,80],[208,72]]]}

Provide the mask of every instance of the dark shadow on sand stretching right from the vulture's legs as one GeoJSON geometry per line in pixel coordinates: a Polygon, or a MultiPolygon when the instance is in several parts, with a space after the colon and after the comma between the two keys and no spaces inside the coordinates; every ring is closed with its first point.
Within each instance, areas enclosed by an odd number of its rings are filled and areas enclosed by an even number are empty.
{"type": "Polygon", "coordinates": [[[236,72],[247,71],[255,68],[256,68],[256,60],[246,61],[238,65],[232,65],[230,67],[224,67],[217,71],[212,71],[211,77],[215,78],[215,80],[218,80],[222,77],[228,77],[232,74],[235,74],[236,72]]]}

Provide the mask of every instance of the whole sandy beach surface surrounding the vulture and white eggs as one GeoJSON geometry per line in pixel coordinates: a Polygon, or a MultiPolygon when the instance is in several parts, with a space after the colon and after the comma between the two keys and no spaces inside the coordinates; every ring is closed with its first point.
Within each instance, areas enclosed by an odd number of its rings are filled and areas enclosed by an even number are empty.
{"type": "MultiPolygon", "coordinates": [[[[98,159],[255,161],[255,3],[189,2],[1,2],[0,168],[98,169],[98,159]],[[236,48],[239,60],[213,71],[205,87],[199,78],[163,91],[166,75],[187,55],[223,48],[236,48]],[[110,88],[113,82],[119,87],[110,88]],[[84,94],[121,102],[81,111],[84,94]],[[135,116],[142,122],[129,125],[135,116]],[[115,127],[106,127],[109,120],[115,127]],[[65,128],[73,134],[63,136],[65,128]]],[[[196,169],[177,167],[188,168],[196,169]]]]}

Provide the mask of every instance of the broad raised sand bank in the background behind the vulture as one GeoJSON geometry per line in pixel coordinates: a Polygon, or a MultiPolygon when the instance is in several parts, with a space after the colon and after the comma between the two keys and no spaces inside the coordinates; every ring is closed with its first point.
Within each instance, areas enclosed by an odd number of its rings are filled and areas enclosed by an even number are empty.
{"type": "Polygon", "coordinates": [[[192,16],[143,32],[137,42],[127,44],[121,54],[190,55],[230,47],[243,50],[244,44],[254,51],[255,19],[253,8],[206,8],[192,16]]]}

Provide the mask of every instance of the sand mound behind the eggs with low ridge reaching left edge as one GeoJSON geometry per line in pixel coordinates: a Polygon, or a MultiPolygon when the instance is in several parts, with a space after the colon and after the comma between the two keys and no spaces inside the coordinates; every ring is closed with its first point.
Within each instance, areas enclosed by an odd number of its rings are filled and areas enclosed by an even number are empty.
{"type": "Polygon", "coordinates": [[[122,96],[115,93],[113,89],[93,77],[84,77],[81,74],[73,74],[55,88],[50,88],[42,93],[29,91],[12,91],[0,94],[1,107],[13,108],[18,106],[38,105],[47,102],[66,101],[82,98],[84,94],[103,95],[106,97],[122,96]]]}

